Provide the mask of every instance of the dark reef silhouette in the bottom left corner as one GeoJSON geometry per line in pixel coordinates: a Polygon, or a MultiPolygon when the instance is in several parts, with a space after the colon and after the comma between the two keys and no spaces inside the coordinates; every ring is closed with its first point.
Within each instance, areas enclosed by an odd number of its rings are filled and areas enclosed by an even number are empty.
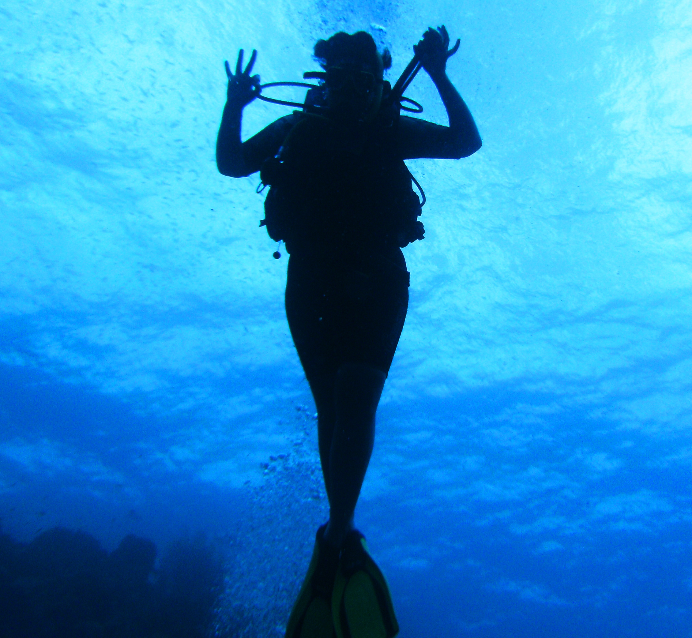
{"type": "Polygon", "coordinates": [[[208,635],[224,583],[203,537],[177,540],[156,565],[151,540],[125,536],[110,554],[56,527],[31,543],[0,535],[1,638],[196,638],[208,635]]]}

